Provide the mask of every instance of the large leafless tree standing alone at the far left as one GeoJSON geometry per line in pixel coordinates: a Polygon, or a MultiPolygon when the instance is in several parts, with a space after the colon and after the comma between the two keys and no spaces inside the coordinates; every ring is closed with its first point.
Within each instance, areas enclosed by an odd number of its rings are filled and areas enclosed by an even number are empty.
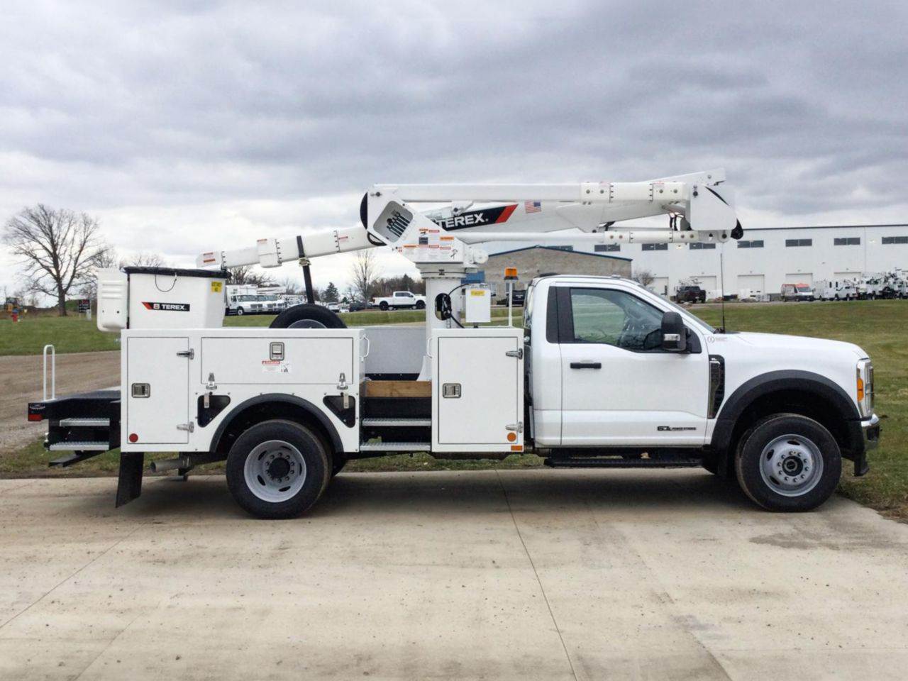
{"type": "Polygon", "coordinates": [[[55,298],[61,317],[66,316],[66,295],[88,280],[107,248],[97,220],[42,203],[10,218],[3,242],[22,258],[28,290],[55,298]]]}

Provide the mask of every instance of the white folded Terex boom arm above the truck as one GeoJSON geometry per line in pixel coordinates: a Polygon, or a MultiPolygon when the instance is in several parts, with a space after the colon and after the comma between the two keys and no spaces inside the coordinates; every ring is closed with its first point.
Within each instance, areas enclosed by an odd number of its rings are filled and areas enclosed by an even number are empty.
{"type": "Polygon", "coordinates": [[[725,242],[743,230],[724,182],[719,169],[642,183],[376,184],[360,205],[361,227],[260,239],[251,248],[203,253],[197,262],[277,267],[387,245],[420,265],[469,267],[486,257],[469,244],[564,241],[543,232],[570,228],[587,232],[571,240],[594,243],[725,242]],[[413,205],[439,202],[451,205],[424,212],[413,205]],[[671,216],[668,229],[611,229],[614,222],[660,214],[671,216]]]}

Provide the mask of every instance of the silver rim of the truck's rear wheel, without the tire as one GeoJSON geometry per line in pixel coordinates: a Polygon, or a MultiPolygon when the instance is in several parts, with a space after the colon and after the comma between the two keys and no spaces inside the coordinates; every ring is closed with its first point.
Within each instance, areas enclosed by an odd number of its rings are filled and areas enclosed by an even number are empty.
{"type": "Polygon", "coordinates": [[[280,503],[293,498],[306,482],[306,461],[299,449],[282,439],[256,445],[246,457],[246,487],[262,501],[280,503]]]}

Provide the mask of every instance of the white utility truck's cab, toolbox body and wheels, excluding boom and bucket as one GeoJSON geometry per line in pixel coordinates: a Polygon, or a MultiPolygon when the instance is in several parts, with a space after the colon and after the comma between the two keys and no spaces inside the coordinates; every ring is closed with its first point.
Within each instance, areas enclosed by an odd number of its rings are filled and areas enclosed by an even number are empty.
{"type": "Polygon", "coordinates": [[[525,327],[123,329],[120,390],[28,418],[74,451],[57,465],[121,447],[118,503],[138,495],[145,453],[177,452],[153,468],[225,459],[233,497],[263,518],[311,508],[350,459],[414,451],[702,466],[763,508],[805,511],[843,459],[864,475],[880,437],[873,366],[851,343],[720,331],[593,276],[532,281],[525,327]]]}

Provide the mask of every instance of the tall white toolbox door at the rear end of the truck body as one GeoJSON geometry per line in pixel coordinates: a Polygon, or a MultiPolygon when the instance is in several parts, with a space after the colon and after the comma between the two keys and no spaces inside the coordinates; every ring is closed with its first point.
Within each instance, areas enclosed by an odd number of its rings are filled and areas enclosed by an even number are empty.
{"type": "Polygon", "coordinates": [[[189,442],[189,339],[126,339],[126,437],[133,445],[189,442]]]}

